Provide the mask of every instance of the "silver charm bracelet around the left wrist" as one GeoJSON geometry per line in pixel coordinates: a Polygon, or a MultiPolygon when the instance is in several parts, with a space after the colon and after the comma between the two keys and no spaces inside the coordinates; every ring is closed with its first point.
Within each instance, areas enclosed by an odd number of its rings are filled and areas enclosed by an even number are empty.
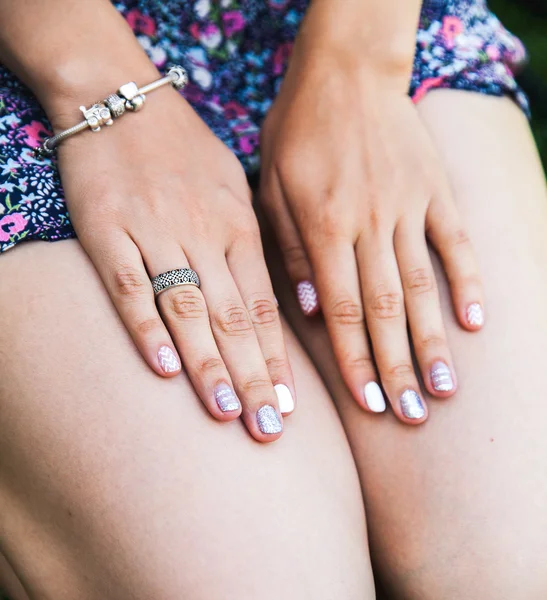
{"type": "Polygon", "coordinates": [[[148,85],[139,88],[134,81],[131,81],[122,85],[115,94],[110,94],[102,102],[95,103],[91,108],[80,106],[85,120],[74,125],[74,127],[46,138],[38,148],[35,148],[34,155],[39,158],[53,156],[57,146],[69,137],[86,129],[97,132],[101,130],[103,125],[110,127],[114,123],[114,119],[119,119],[126,111],[137,112],[141,110],[146,100],[146,94],[169,83],[176,90],[182,90],[188,83],[188,74],[185,69],[175,65],[169,69],[165,77],[148,85]]]}

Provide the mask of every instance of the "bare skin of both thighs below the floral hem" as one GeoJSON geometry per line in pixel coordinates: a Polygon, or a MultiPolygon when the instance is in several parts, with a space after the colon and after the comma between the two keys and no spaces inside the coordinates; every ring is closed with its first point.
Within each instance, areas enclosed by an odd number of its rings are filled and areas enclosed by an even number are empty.
{"type": "Polygon", "coordinates": [[[0,539],[30,598],[374,598],[363,500],[387,598],[545,598],[545,179],[510,100],[439,91],[419,111],[491,307],[477,336],[447,318],[461,389],[431,403],[424,428],[360,410],[264,231],[276,295],[353,459],[290,330],[299,409],[262,446],[213,420],[183,375],[149,372],[76,241],[2,257],[0,539]]]}

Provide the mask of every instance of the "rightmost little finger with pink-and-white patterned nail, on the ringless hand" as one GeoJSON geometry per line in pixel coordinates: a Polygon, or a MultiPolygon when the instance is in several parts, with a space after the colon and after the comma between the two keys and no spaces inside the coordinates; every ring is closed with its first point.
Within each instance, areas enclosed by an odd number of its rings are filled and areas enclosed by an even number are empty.
{"type": "Polygon", "coordinates": [[[458,321],[469,331],[484,325],[484,299],[475,254],[448,186],[431,202],[426,217],[429,240],[443,263],[458,321]]]}

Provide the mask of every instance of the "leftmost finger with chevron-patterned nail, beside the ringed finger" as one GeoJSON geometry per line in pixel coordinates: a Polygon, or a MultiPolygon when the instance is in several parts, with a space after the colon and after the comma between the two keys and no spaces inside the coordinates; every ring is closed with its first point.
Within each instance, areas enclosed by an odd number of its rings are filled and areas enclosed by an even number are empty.
{"type": "Polygon", "coordinates": [[[154,303],[139,248],[123,232],[86,247],[120,318],[146,362],[158,374],[180,373],[180,358],[154,303]]]}

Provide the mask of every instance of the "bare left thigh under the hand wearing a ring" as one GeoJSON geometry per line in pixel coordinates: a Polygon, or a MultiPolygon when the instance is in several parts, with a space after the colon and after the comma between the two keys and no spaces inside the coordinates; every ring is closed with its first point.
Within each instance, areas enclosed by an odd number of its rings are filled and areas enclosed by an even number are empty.
{"type": "Polygon", "coordinates": [[[76,241],[0,279],[0,552],[31,598],[374,597],[349,445],[288,329],[299,405],[261,445],[146,367],[76,241]]]}

